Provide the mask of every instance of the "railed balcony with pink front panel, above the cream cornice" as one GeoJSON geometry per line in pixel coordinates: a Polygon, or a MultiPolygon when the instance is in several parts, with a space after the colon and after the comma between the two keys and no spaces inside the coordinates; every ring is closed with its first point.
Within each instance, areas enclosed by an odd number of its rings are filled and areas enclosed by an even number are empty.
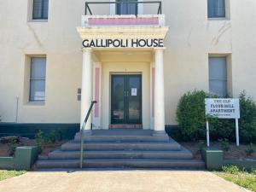
{"type": "Polygon", "coordinates": [[[83,27],[165,26],[161,1],[86,2],[83,27]],[[147,14],[144,14],[147,13],[147,14]]]}

